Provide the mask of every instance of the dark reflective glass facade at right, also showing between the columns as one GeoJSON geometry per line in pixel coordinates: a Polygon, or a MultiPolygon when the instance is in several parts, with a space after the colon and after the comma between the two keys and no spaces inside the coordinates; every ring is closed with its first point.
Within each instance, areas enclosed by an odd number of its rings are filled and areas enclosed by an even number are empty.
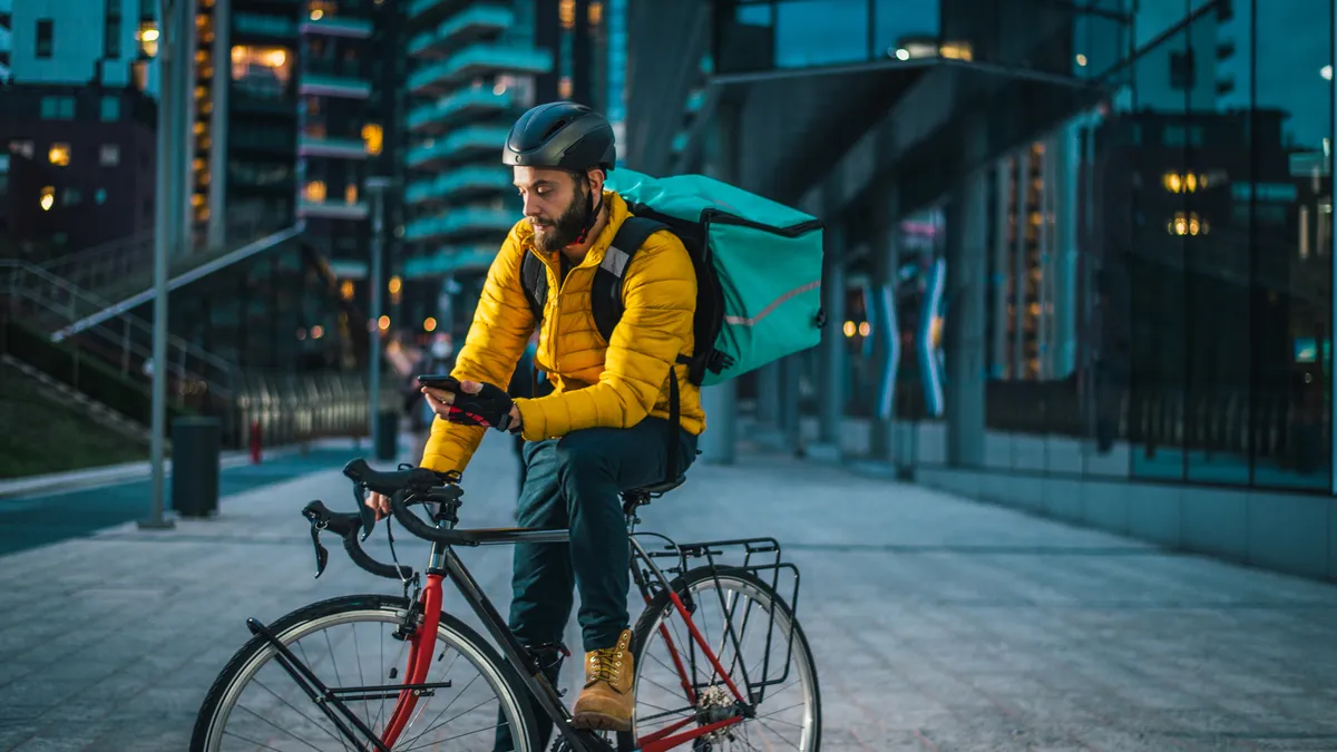
{"type": "MultiPolygon", "coordinates": [[[[988,431],[972,464],[1328,494],[1332,1],[1154,5],[1107,96],[987,169],[988,431]]],[[[928,466],[948,463],[953,407],[944,210],[900,233],[897,415],[917,428],[901,451],[928,466]]],[[[849,297],[846,408],[872,415],[857,380],[876,379],[874,322],[856,318],[876,305],[849,297]]]]}

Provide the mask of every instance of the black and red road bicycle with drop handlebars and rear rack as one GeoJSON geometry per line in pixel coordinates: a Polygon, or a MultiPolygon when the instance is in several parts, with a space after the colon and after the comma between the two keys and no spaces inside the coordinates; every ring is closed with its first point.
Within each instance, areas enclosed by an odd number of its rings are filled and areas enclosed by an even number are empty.
{"type": "MultiPolygon", "coordinates": [[[[548,672],[554,670],[552,658],[556,654],[554,649],[566,656],[570,656],[570,652],[560,645],[521,645],[455,550],[456,546],[519,542],[564,543],[568,541],[568,530],[457,529],[459,508],[463,504],[457,475],[452,476],[451,482],[443,482],[432,471],[406,466],[401,466],[397,471],[376,471],[362,459],[348,463],[344,475],[353,482],[357,512],[330,511],[321,500],[310,502],[302,510],[302,515],[310,522],[317,562],[316,577],[325,571],[329,561],[329,553],[321,543],[321,533],[329,531],[342,539],[349,557],[360,567],[378,577],[398,579],[404,586],[404,595],[345,595],[299,607],[267,625],[255,618],[246,620],[253,637],[229,660],[201,704],[191,737],[191,752],[219,752],[225,740],[234,739],[247,749],[322,749],[316,743],[328,743],[329,739],[338,744],[337,749],[376,752],[424,749],[429,748],[427,747],[429,744],[440,745],[431,748],[453,749],[471,741],[480,743],[477,748],[491,749],[491,744],[500,744],[507,736],[515,752],[541,752],[537,713],[554,724],[556,732],[552,741],[554,751],[663,752],[691,743],[694,751],[702,752],[733,747],[735,743],[745,745],[743,748],[755,748],[751,747],[751,729],[758,729],[758,735],[763,731],[773,732],[774,725],[766,723],[766,719],[774,719],[775,715],[794,708],[798,708],[798,720],[785,723],[798,729],[798,741],[790,741],[785,748],[793,747],[802,752],[816,752],[820,748],[821,707],[817,668],[808,640],[794,617],[798,569],[790,562],[781,561],[779,543],[774,538],[747,538],[678,545],[664,535],[635,530],[640,522],[636,515],[638,508],[681,486],[685,476],[622,494],[631,538],[631,575],[646,607],[632,629],[630,648],[635,665],[636,702],[632,727],[630,732],[610,733],[572,728],[571,713],[562,701],[564,692],[559,692],[548,678],[548,672]],[[361,542],[368,539],[376,525],[374,512],[362,503],[368,491],[390,496],[390,518],[417,538],[432,543],[425,569],[425,586],[420,573],[398,562],[389,519],[385,527],[393,563],[377,561],[362,549],[361,542]],[[418,504],[431,522],[414,512],[418,504]],[[639,541],[642,537],[658,538],[666,545],[662,549],[647,550],[639,541]],[[742,551],[743,562],[725,563],[722,557],[727,550],[742,551]],[[656,563],[656,559],[664,558],[673,559],[671,566],[660,567],[656,563]],[[705,559],[705,563],[689,566],[690,559],[705,559]],[[755,563],[754,559],[762,563],[755,563]],[[777,591],[782,571],[793,575],[793,593],[787,601],[777,591]],[[763,574],[769,574],[769,581],[763,579],[763,574]],[[460,595],[500,648],[500,653],[459,617],[441,610],[441,583],[447,577],[455,582],[460,595]],[[718,598],[707,597],[711,589],[718,598]],[[745,598],[749,605],[739,621],[735,612],[745,598]],[[705,620],[705,607],[713,606],[717,601],[722,609],[722,626],[718,646],[713,648],[707,640],[709,624],[705,620]],[[750,674],[742,665],[742,648],[750,634],[757,634],[747,632],[753,603],[758,606],[757,613],[762,614],[763,624],[758,629],[765,632],[766,650],[761,670],[755,674],[750,674]],[[677,626],[670,624],[670,617],[677,617],[686,626],[689,634],[686,641],[681,640],[677,626]],[[330,630],[341,626],[353,628],[352,648],[356,650],[358,674],[353,685],[345,682],[345,678],[353,678],[352,670],[346,666],[345,672],[338,670],[334,640],[330,638],[330,630]],[[372,658],[361,652],[357,640],[358,626],[393,629],[390,638],[401,644],[397,656],[389,664],[384,661],[382,644],[381,670],[389,666],[386,680],[368,678],[364,660],[372,658]],[[325,644],[330,648],[333,676],[329,676],[330,666],[326,662],[312,661],[303,646],[303,640],[314,636],[324,636],[325,644]],[[675,642],[674,637],[679,637],[679,641],[675,642]],[[667,661],[650,652],[656,645],[662,645],[667,661]],[[726,670],[723,661],[729,648],[733,649],[733,658],[726,670]],[[771,648],[782,650],[785,658],[782,670],[774,676],[771,672],[774,666],[770,662],[771,648]],[[428,673],[433,664],[445,662],[447,654],[452,650],[456,657],[447,666],[447,676],[429,680],[428,673]],[[705,660],[699,669],[698,654],[705,660]],[[460,657],[477,670],[477,678],[485,685],[483,689],[495,693],[496,711],[480,711],[483,707],[480,702],[437,724],[436,721],[459,700],[456,697],[425,724],[427,728],[414,729],[414,724],[427,713],[422,705],[425,701],[457,688],[460,673],[452,670],[460,657]],[[664,682],[647,678],[647,672],[655,662],[667,669],[671,678],[664,682]],[[295,688],[298,701],[305,698],[309,702],[306,707],[313,708],[310,715],[259,681],[261,672],[275,664],[281,669],[275,674],[279,680],[286,674],[290,680],[287,688],[290,690],[295,688]],[[402,681],[397,681],[400,666],[404,666],[402,681]],[[320,676],[321,673],[325,676],[320,676]],[[762,715],[758,708],[769,696],[793,686],[783,684],[790,680],[790,674],[804,684],[800,701],[774,712],[770,712],[767,705],[767,713],[762,715]],[[286,709],[279,711],[282,717],[277,723],[265,720],[255,711],[242,705],[242,697],[257,684],[286,705],[286,709]],[[777,686],[779,689],[775,689],[777,686]],[[659,698],[659,694],[671,697],[675,705],[679,702],[685,705],[664,708],[648,702],[647,697],[659,698]],[[381,707],[374,719],[365,720],[350,709],[361,704],[370,716],[370,704],[377,700],[381,707]],[[390,700],[393,707],[388,709],[386,702],[390,700]],[[640,713],[643,701],[651,711],[646,715],[640,713]],[[251,721],[250,716],[238,713],[239,709],[259,721],[251,721]],[[328,721],[333,731],[321,724],[321,719],[328,721]],[[493,721],[491,739],[477,736],[488,731],[487,728],[459,732],[461,725],[469,727],[476,720],[493,721]],[[233,721],[235,725],[230,727],[233,721]],[[443,731],[447,724],[456,725],[443,731]],[[433,732],[435,736],[428,739],[433,732]],[[265,735],[267,739],[255,739],[265,735]]],[[[349,646],[345,638],[341,638],[340,644],[344,648],[349,646]]],[[[465,668],[468,666],[460,670],[465,668]]],[[[460,689],[460,697],[477,678],[460,689]]],[[[660,700],[660,702],[668,701],[660,700]]]]}

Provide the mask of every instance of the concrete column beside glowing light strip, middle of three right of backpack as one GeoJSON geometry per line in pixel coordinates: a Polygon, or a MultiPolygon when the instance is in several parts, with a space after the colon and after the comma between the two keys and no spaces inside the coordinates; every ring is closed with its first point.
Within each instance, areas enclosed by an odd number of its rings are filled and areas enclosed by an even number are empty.
{"type": "Polygon", "coordinates": [[[872,310],[873,363],[877,379],[873,388],[876,412],[869,423],[869,451],[873,460],[890,460],[896,424],[896,372],[900,365],[900,325],[896,320],[894,285],[900,262],[900,197],[893,183],[878,202],[872,217],[873,234],[869,254],[873,260],[872,310]]]}

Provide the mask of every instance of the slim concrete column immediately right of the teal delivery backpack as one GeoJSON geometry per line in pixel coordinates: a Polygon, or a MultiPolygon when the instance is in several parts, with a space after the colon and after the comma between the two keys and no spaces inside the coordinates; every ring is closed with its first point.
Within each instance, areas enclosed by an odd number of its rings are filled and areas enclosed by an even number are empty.
{"type": "Polygon", "coordinates": [[[818,446],[814,456],[840,458],[841,424],[845,417],[845,375],[849,368],[845,352],[845,227],[833,222],[826,227],[826,253],[822,262],[822,308],[828,325],[818,345],[817,419],[818,446]]]}

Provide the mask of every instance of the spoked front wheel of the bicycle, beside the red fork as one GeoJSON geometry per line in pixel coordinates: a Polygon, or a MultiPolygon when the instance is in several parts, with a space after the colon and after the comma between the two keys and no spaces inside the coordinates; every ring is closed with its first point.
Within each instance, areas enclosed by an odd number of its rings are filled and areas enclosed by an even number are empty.
{"type": "MultiPolygon", "coordinates": [[[[348,595],[301,607],[270,632],[377,739],[405,681],[409,642],[393,633],[409,606],[390,595],[348,595]]],[[[255,636],[233,656],[201,705],[191,752],[376,749],[333,701],[317,702],[255,636]],[[324,705],[324,708],[322,708],[324,705]],[[330,717],[356,735],[349,739],[330,717]]],[[[539,752],[520,677],[468,625],[443,613],[428,676],[396,751],[539,752]],[[448,686],[440,686],[449,682],[448,686]]]]}

